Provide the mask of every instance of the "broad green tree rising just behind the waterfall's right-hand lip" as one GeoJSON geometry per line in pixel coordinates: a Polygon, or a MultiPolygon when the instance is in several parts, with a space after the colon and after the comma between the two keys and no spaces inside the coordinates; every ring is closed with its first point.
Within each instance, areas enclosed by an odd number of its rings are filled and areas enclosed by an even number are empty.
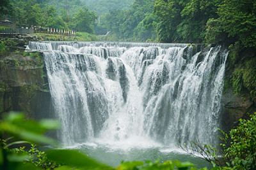
{"type": "Polygon", "coordinates": [[[154,13],[161,21],[157,27],[159,40],[201,43],[204,41],[206,22],[216,17],[220,3],[220,0],[157,0],[154,13]]]}

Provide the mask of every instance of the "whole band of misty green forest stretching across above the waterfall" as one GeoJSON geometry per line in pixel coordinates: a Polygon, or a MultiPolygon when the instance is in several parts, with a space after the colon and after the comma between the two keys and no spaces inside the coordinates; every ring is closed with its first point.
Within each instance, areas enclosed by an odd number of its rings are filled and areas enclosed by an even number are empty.
{"type": "Polygon", "coordinates": [[[254,0],[3,0],[0,9],[17,24],[110,32],[111,40],[256,46],[254,0]]]}

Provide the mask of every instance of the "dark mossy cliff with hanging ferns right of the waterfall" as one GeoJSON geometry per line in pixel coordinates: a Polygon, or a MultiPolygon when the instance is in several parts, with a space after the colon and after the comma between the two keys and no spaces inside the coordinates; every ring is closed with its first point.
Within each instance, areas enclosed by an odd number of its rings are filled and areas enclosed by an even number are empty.
{"type": "Polygon", "coordinates": [[[229,130],[256,111],[256,49],[231,46],[223,90],[223,125],[229,130]]]}

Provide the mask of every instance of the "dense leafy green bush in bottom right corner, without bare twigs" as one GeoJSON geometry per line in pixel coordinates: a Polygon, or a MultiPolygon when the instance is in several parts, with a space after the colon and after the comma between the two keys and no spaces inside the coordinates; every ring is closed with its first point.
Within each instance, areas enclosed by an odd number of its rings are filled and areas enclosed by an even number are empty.
{"type": "MultiPolygon", "coordinates": [[[[239,120],[239,125],[229,132],[230,147],[222,144],[228,166],[232,169],[256,168],[256,113],[248,120],[239,120]]],[[[223,141],[228,141],[228,135],[223,132],[223,141]]]]}

